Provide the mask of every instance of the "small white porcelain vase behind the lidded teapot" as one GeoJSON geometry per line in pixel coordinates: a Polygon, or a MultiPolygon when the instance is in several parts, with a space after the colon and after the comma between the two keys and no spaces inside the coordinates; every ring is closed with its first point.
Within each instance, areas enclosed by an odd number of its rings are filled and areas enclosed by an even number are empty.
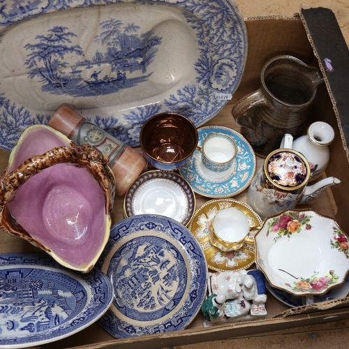
{"type": "Polygon", "coordinates": [[[307,135],[293,141],[292,149],[302,153],[309,162],[313,181],[320,177],[329,163],[328,145],[334,140],[334,129],[323,121],[316,121],[308,128],[307,135]]]}

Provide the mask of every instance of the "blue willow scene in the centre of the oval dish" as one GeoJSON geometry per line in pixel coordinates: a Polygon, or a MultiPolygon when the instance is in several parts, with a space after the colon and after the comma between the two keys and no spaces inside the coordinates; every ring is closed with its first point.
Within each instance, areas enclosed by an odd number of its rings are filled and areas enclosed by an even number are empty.
{"type": "Polygon", "coordinates": [[[46,280],[40,269],[0,271],[0,333],[3,326],[9,332],[43,332],[65,322],[84,307],[87,295],[75,280],[68,276],[56,280],[50,271],[45,274],[46,280]],[[72,293],[75,283],[77,288],[72,293]]]}

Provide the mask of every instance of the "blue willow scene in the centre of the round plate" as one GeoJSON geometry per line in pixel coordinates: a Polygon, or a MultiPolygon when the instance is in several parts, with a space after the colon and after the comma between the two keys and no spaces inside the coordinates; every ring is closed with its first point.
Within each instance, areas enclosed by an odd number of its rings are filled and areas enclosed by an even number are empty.
{"type": "Polygon", "coordinates": [[[144,237],[126,244],[113,256],[110,268],[117,271],[114,305],[121,313],[150,320],[177,306],[175,299],[184,292],[188,276],[181,254],[168,246],[163,239],[144,237]],[[138,309],[149,312],[142,314],[138,309]]]}

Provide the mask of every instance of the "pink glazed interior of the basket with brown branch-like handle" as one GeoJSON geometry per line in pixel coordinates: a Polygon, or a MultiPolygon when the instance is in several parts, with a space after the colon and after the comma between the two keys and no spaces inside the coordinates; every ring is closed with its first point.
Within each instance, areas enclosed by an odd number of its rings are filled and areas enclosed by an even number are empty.
{"type": "MultiPolygon", "coordinates": [[[[68,138],[48,126],[24,133],[10,156],[10,173],[31,156],[66,147],[68,138]]],[[[8,211],[30,235],[66,267],[87,272],[98,259],[110,231],[105,193],[87,168],[52,165],[30,177],[8,202],[8,211]]]]}

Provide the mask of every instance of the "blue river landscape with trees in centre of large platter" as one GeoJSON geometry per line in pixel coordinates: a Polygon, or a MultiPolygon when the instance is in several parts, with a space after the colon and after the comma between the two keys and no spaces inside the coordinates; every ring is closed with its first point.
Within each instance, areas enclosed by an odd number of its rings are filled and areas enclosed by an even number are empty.
{"type": "Polygon", "coordinates": [[[25,61],[29,78],[38,78],[41,89],[50,94],[72,96],[112,94],[147,80],[151,74],[147,66],[161,45],[161,37],[151,32],[138,34],[138,25],[114,18],[101,22],[100,28],[94,42],[107,46],[105,53],[97,46],[92,59],[82,59],[74,66],[59,59],[59,55],[86,57],[86,53],[80,45],[73,44],[72,38],[77,35],[67,27],[55,26],[47,34],[36,36],[36,42],[24,46],[29,51],[25,61]],[[138,70],[139,74],[132,75],[138,70]]]}

